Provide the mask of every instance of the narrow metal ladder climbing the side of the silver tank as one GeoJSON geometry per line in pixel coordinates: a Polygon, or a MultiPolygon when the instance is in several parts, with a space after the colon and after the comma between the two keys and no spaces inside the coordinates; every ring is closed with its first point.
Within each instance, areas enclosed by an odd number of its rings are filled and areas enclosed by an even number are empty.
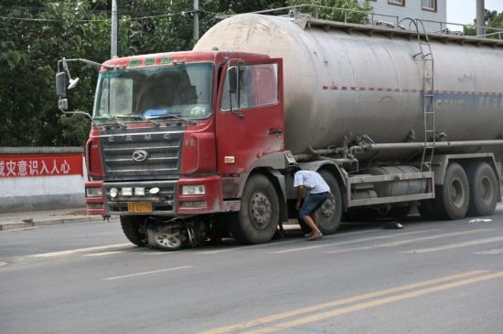
{"type": "Polygon", "coordinates": [[[423,61],[423,122],[424,147],[421,158],[421,172],[432,170],[433,153],[435,150],[435,103],[434,103],[434,59],[430,40],[421,20],[416,20],[420,52],[414,58],[423,61]],[[423,38],[419,33],[419,25],[423,26],[423,38]]]}

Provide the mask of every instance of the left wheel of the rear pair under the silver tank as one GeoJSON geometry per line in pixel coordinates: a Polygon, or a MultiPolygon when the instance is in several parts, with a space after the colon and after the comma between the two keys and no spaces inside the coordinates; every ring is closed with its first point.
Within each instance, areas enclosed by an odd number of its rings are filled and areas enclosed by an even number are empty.
{"type": "Polygon", "coordinates": [[[466,216],[470,204],[470,185],[466,172],[459,163],[447,167],[444,185],[436,188],[433,203],[441,219],[455,220],[466,216]]]}

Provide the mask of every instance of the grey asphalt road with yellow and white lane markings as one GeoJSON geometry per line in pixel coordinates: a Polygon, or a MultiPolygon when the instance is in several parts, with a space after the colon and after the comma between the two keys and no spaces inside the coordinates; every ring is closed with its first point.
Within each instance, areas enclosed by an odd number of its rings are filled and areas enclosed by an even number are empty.
{"type": "Polygon", "coordinates": [[[174,253],[116,222],[5,231],[0,332],[501,333],[503,206],[489,218],[174,253]]]}

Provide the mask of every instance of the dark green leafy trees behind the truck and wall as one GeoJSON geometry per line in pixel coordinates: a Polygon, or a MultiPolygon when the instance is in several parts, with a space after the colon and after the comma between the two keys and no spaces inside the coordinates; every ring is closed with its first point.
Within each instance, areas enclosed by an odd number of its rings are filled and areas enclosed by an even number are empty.
{"type": "MultiPolygon", "coordinates": [[[[85,117],[58,108],[54,76],[62,57],[98,62],[110,57],[111,0],[0,0],[0,146],[82,145],[85,117]]],[[[304,1],[303,1],[304,2],[304,1]]],[[[119,56],[191,49],[192,1],[118,0],[119,56]]],[[[346,7],[344,1],[322,5],[346,7]]],[[[356,0],[348,3],[355,5],[356,0]]],[[[219,14],[294,5],[287,0],[202,0],[199,34],[219,14]]],[[[321,3],[320,3],[321,4],[321,3]]],[[[360,8],[360,7],[358,7],[360,8]]],[[[69,92],[70,110],[91,111],[96,68],[70,65],[79,86],[69,92]]]]}

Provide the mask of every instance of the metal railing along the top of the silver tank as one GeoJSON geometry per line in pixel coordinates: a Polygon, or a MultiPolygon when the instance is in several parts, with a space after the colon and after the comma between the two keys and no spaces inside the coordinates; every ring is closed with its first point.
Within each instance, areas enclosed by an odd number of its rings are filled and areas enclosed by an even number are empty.
{"type": "MultiPolygon", "coordinates": [[[[288,12],[288,15],[295,17],[297,15],[297,10],[298,9],[305,9],[305,8],[310,8],[310,9],[315,9],[314,17],[319,18],[319,16],[322,14],[322,11],[331,11],[332,13],[334,12],[340,12],[341,15],[343,16],[342,22],[348,23],[348,22],[353,22],[353,23],[360,23],[360,24],[370,24],[370,25],[385,25],[385,26],[393,26],[396,28],[401,28],[405,29],[406,27],[401,26],[401,21],[402,18],[401,16],[392,16],[389,14],[381,14],[381,13],[375,13],[372,11],[360,11],[356,9],[350,9],[350,8],[339,8],[339,7],[331,7],[331,6],[326,6],[326,5],[290,5],[286,7],[280,7],[280,8],[273,8],[273,9],[265,9],[265,10],[260,10],[260,11],[255,11],[251,12],[251,14],[271,14],[271,13],[278,13],[278,12],[288,12]],[[364,15],[364,20],[361,22],[354,22],[351,20],[351,15],[364,15]],[[380,19],[378,19],[380,18],[380,19]],[[384,18],[386,21],[383,21],[382,18],[384,18]]],[[[302,13],[298,13],[302,14],[302,13]]],[[[219,19],[224,19],[227,17],[230,17],[233,15],[228,15],[228,16],[217,16],[219,19]]],[[[477,27],[482,27],[485,31],[486,34],[484,35],[479,35],[479,36],[474,36],[474,37],[479,37],[479,38],[494,38],[498,37],[498,39],[503,40],[503,29],[500,28],[494,28],[491,26],[477,26],[477,25],[464,25],[464,24],[459,24],[459,23],[454,23],[454,22],[444,22],[444,21],[435,21],[435,20],[427,20],[427,19],[420,19],[423,23],[430,24],[430,26],[435,26],[438,25],[438,30],[434,31],[435,34],[440,34],[440,35],[457,35],[457,36],[465,36],[465,31],[468,29],[474,29],[476,30],[477,27]],[[452,26],[459,27],[460,31],[457,30],[452,30],[452,26]]]]}

